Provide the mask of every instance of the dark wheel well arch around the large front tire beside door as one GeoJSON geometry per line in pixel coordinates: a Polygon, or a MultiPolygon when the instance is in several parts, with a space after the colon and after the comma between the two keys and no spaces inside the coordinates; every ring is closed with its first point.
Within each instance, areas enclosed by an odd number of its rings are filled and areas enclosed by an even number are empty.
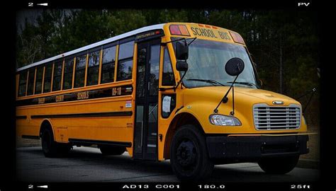
{"type": "Polygon", "coordinates": [[[183,125],[194,125],[196,128],[200,129],[203,134],[206,134],[194,115],[184,112],[175,116],[172,122],[169,125],[166,139],[164,141],[164,158],[170,158],[170,144],[172,142],[173,136],[177,130],[183,125]]]}

